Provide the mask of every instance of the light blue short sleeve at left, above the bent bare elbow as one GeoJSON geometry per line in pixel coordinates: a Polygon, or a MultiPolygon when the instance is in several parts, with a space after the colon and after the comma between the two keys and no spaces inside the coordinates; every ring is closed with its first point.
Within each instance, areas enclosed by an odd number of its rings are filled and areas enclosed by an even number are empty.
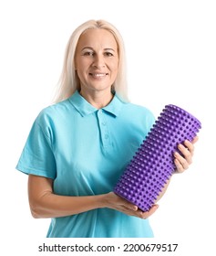
{"type": "Polygon", "coordinates": [[[57,167],[51,138],[45,133],[45,128],[42,127],[48,127],[48,124],[37,117],[15,168],[27,175],[46,176],[55,179],[57,167]]]}

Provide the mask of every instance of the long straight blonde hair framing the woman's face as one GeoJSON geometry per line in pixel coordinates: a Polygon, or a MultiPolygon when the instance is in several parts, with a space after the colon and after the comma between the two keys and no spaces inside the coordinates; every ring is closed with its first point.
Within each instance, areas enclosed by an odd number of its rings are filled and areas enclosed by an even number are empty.
{"type": "Polygon", "coordinates": [[[64,101],[75,91],[80,90],[77,72],[75,70],[75,53],[79,37],[92,28],[107,29],[115,37],[118,44],[118,76],[112,85],[112,90],[118,93],[122,101],[128,100],[128,86],[126,79],[126,59],[124,42],[118,29],[105,20],[88,20],[73,32],[67,43],[62,73],[57,84],[57,91],[54,102],[64,101]]]}

